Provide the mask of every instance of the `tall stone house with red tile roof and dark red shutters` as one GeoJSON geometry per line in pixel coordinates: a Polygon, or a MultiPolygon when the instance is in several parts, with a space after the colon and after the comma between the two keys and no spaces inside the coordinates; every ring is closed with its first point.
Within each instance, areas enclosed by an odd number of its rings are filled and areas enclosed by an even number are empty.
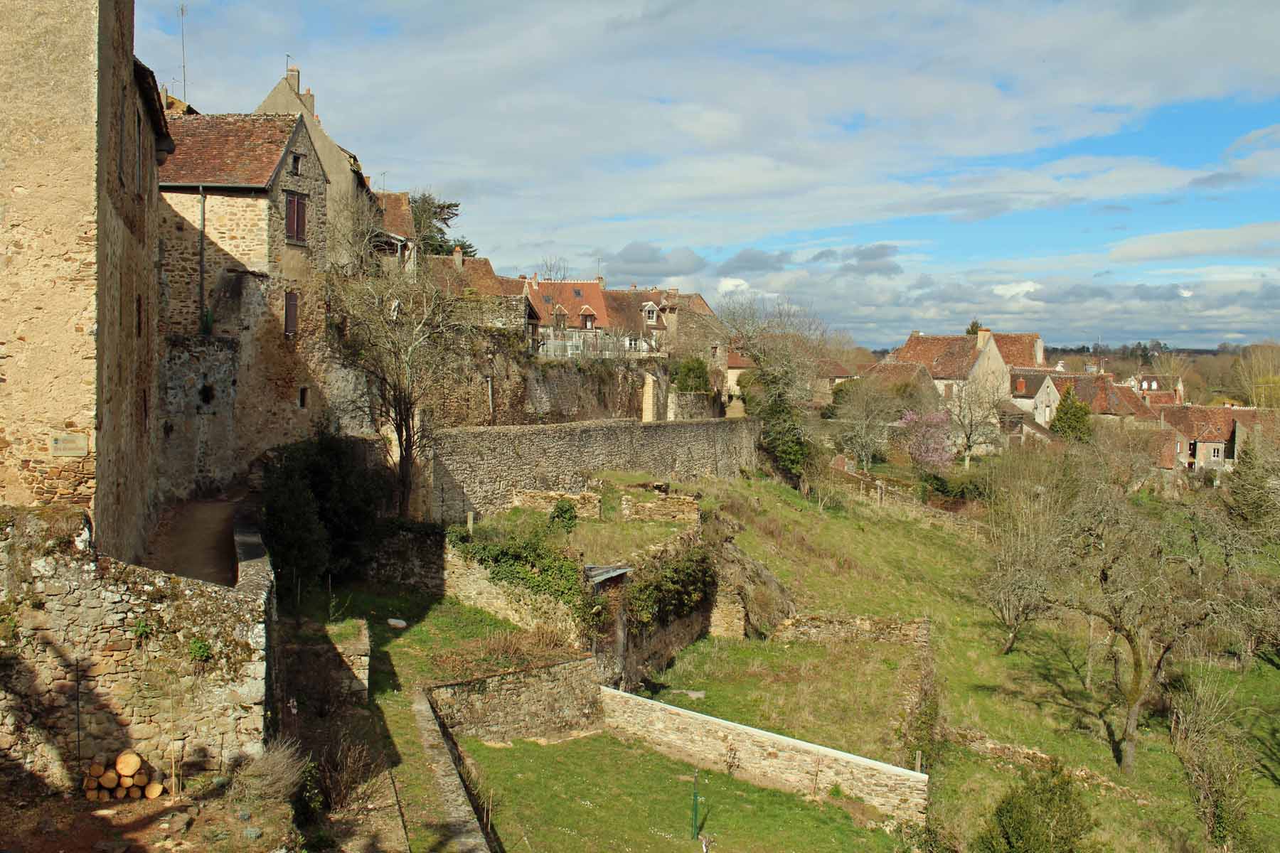
{"type": "Polygon", "coordinates": [[[329,180],[302,116],[172,115],[160,169],[165,500],[211,491],[337,419],[326,373],[329,180]]]}

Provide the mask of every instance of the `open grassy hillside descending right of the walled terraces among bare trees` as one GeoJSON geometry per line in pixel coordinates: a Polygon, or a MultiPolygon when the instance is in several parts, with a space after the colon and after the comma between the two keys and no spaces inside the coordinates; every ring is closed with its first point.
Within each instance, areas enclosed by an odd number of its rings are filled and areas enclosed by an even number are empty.
{"type": "MultiPolygon", "coordinates": [[[[931,616],[950,725],[977,728],[1089,767],[1147,803],[1116,794],[1096,797],[1101,838],[1115,849],[1175,849],[1179,838],[1196,838],[1196,818],[1164,720],[1153,719],[1144,729],[1134,776],[1116,769],[1102,733],[1102,702],[1082,685],[1083,641],[1075,632],[1046,624],[1012,655],[995,653],[998,632],[973,593],[984,559],[980,542],[859,504],[820,513],[794,491],[768,482],[717,483],[708,487],[705,503],[744,522],[737,542],[797,593],[801,610],[931,616]]],[[[1266,733],[1267,726],[1274,733],[1280,710],[1280,670],[1260,664],[1244,678],[1228,678],[1240,683],[1242,705],[1263,708],[1254,725],[1275,770],[1277,739],[1266,733]]],[[[1096,673],[1094,684],[1101,680],[1096,673]]],[[[1015,776],[961,749],[947,751],[933,775],[940,815],[965,835],[1015,776]]],[[[1280,839],[1280,785],[1274,776],[1256,785],[1256,826],[1270,841],[1280,839]]]]}

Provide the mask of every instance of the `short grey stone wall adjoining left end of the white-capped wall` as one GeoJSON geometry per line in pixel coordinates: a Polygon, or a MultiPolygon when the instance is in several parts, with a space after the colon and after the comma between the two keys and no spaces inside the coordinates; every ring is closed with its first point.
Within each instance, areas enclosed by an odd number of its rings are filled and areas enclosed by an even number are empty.
{"type": "Polygon", "coordinates": [[[484,740],[535,738],[588,728],[600,719],[605,674],[590,655],[550,666],[439,684],[431,707],[454,735],[484,740]]]}

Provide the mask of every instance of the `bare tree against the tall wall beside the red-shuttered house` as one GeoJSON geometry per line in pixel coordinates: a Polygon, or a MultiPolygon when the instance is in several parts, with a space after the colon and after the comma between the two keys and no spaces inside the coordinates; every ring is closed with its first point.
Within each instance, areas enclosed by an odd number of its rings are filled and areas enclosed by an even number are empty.
{"type": "Polygon", "coordinates": [[[398,510],[408,517],[415,466],[435,422],[434,395],[456,371],[472,312],[460,306],[461,274],[452,265],[406,270],[385,262],[380,230],[360,210],[348,219],[353,225],[342,239],[353,260],[329,274],[328,343],[339,364],[365,377],[374,423],[394,437],[398,510]]]}

